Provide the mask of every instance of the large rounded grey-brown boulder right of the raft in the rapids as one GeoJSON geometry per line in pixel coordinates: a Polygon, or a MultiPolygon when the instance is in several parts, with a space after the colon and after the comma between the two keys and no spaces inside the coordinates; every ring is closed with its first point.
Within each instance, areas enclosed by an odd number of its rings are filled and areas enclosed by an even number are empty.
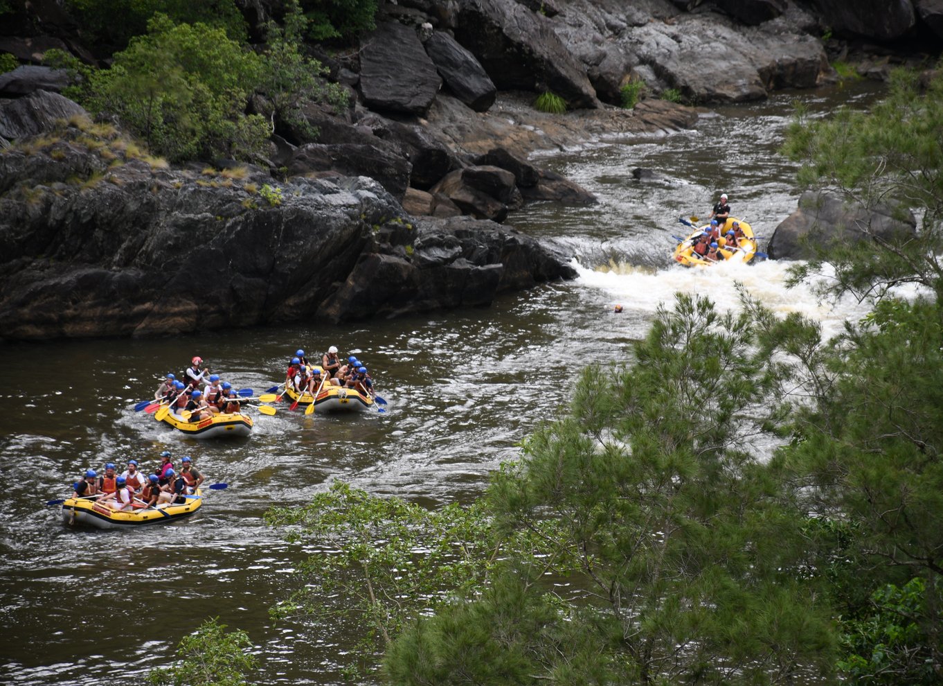
{"type": "Polygon", "coordinates": [[[772,259],[811,259],[815,257],[813,246],[857,243],[875,236],[892,241],[916,230],[917,220],[909,212],[902,221],[887,206],[869,210],[835,195],[807,191],[802,193],[798,209],[776,226],[767,252],[772,259]]]}

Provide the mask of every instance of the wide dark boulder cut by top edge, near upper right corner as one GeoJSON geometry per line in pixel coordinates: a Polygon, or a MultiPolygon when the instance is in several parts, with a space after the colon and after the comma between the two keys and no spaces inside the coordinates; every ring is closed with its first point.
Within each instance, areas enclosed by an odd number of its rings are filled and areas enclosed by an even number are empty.
{"type": "Polygon", "coordinates": [[[821,22],[836,34],[893,41],[917,22],[911,0],[812,0],[821,22]]]}

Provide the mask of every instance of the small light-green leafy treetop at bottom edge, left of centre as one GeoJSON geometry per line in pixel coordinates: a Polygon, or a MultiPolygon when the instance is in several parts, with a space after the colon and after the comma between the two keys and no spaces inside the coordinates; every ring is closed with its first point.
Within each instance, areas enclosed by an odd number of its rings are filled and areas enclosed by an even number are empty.
{"type": "Polygon", "coordinates": [[[240,630],[226,631],[219,618],[207,619],[177,644],[177,662],[152,669],[147,682],[154,686],[244,686],[247,672],[256,669],[249,654],[252,642],[240,630]]]}

